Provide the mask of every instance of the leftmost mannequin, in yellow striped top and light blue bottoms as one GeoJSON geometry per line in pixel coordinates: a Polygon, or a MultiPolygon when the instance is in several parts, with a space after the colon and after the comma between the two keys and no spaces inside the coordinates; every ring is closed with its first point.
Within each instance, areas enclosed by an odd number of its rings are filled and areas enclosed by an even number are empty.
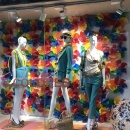
{"type": "Polygon", "coordinates": [[[21,82],[23,78],[27,79],[27,59],[22,51],[26,47],[27,40],[24,37],[18,38],[18,47],[12,51],[12,76],[10,84],[14,85],[15,96],[14,96],[14,106],[13,106],[13,115],[12,115],[12,126],[13,127],[22,127],[24,126],[24,121],[20,120],[20,109],[21,101],[24,92],[24,83],[21,82]],[[17,78],[17,81],[16,81],[17,78]],[[22,85],[23,84],[23,85],[22,85]]]}

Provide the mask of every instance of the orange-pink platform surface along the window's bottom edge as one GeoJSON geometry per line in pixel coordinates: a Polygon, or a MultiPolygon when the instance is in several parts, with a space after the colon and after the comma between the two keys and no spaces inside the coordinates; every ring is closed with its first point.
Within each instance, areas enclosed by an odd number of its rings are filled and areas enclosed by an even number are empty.
{"type": "MultiPolygon", "coordinates": [[[[45,130],[45,127],[44,127],[44,123],[42,122],[30,121],[30,122],[26,122],[23,128],[13,128],[11,127],[11,124],[8,125],[8,120],[5,120],[0,123],[0,130],[45,130]]],[[[50,130],[57,130],[57,129],[55,128],[50,130]]],[[[86,130],[86,129],[84,125],[74,124],[74,130],[86,130]]],[[[99,126],[98,130],[112,130],[112,128],[99,126]]]]}

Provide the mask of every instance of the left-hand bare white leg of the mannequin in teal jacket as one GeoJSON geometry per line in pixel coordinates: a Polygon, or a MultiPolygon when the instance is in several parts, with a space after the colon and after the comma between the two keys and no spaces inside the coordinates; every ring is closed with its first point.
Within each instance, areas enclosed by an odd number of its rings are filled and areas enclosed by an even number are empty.
{"type": "Polygon", "coordinates": [[[51,105],[50,105],[50,111],[48,115],[48,119],[50,119],[53,116],[55,104],[56,104],[56,96],[58,93],[59,88],[58,87],[53,87],[53,93],[52,93],[52,99],[51,99],[51,105]]]}

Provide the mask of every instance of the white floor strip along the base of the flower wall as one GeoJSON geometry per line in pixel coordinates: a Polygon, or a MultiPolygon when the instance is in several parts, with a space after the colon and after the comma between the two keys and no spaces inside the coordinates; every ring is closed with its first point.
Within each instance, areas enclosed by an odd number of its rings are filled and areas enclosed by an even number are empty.
{"type": "MultiPolygon", "coordinates": [[[[4,120],[10,119],[9,115],[0,114],[0,122],[3,122],[4,120]]],[[[34,117],[34,116],[21,116],[21,119],[24,121],[35,121],[35,122],[45,122],[46,119],[43,117],[34,117]]],[[[57,119],[55,119],[57,121],[57,119]]],[[[85,125],[86,123],[82,123],[81,121],[74,121],[74,124],[80,124],[85,125]]],[[[105,127],[111,127],[111,124],[109,123],[99,123],[99,126],[105,126],[105,127]]]]}

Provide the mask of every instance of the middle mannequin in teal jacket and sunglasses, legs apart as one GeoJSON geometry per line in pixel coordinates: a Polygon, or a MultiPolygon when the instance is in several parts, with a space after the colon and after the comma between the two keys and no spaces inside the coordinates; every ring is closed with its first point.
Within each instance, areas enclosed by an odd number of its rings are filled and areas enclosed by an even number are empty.
{"type": "MultiPolygon", "coordinates": [[[[61,80],[67,78],[69,81],[71,81],[71,76],[72,76],[71,69],[72,69],[72,58],[73,58],[73,51],[71,46],[72,38],[69,33],[63,33],[61,39],[63,39],[64,47],[58,55],[57,69],[55,70],[55,78],[61,80]]],[[[54,86],[53,86],[53,93],[52,93],[48,120],[51,119],[53,116],[53,112],[56,104],[56,96],[59,90],[59,87],[55,86],[56,85],[55,82],[53,82],[53,85],[54,86]]],[[[60,87],[62,90],[63,97],[65,99],[65,106],[67,108],[68,113],[71,115],[70,100],[68,96],[67,87],[63,87],[62,83],[60,87]]]]}

